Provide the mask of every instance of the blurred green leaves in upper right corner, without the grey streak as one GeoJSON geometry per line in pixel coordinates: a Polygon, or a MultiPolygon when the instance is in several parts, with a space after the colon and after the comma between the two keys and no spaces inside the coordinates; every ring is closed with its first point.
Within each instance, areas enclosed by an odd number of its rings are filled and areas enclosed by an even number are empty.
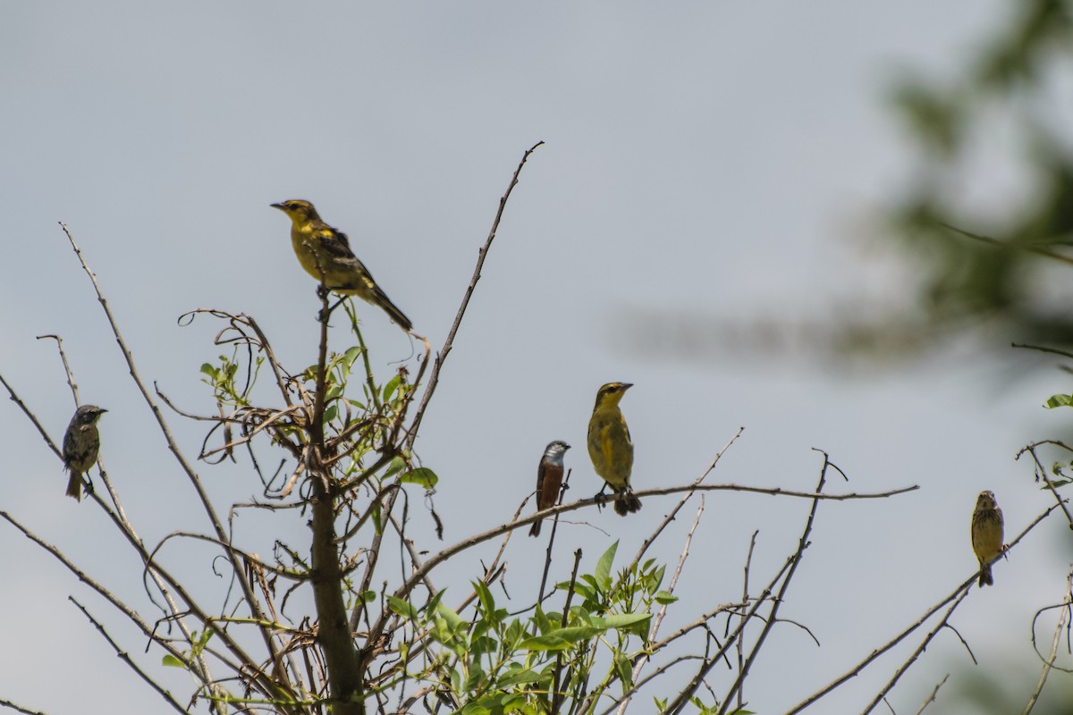
{"type": "Polygon", "coordinates": [[[1073,344],[1073,312],[1061,304],[1073,298],[1064,289],[1073,264],[1073,129],[1055,119],[1070,109],[1073,2],[1010,10],[953,79],[914,73],[899,81],[895,106],[920,158],[891,223],[918,280],[913,297],[929,332],[986,329],[1003,347],[1010,340],[1065,346],[1073,344]],[[1030,191],[1024,200],[973,203],[966,194],[989,178],[980,164],[991,160],[997,118],[1012,125],[1021,158],[996,162],[994,172],[1015,173],[1030,191]],[[1047,271],[1059,266],[1056,280],[1047,271]]]}

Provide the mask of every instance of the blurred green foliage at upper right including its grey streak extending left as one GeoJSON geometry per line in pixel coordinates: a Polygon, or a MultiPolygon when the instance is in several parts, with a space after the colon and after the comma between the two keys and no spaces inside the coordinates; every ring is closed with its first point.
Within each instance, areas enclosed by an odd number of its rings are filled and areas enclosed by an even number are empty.
{"type": "Polygon", "coordinates": [[[1073,346],[1073,0],[1004,12],[972,50],[893,80],[908,168],[861,232],[868,265],[847,277],[849,295],[745,316],[638,304],[608,334],[640,355],[838,370],[966,342],[976,356],[1073,346]]]}

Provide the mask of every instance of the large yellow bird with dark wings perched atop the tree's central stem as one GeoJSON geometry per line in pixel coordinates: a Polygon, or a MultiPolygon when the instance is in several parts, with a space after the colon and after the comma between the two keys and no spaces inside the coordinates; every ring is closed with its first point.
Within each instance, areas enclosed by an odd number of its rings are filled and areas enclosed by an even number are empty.
{"type": "Polygon", "coordinates": [[[324,223],[312,204],[292,198],[271,207],[291,218],[291,245],[307,273],[321,281],[323,271],[324,286],[329,291],[357,296],[381,308],[405,331],[413,329],[410,318],[387,298],[369,269],[351,251],[347,234],[324,223]]]}

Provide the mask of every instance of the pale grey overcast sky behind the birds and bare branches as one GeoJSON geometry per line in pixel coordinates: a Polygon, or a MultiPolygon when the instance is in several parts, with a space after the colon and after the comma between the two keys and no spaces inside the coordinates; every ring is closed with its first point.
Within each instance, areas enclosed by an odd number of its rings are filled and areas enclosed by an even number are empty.
{"type": "MultiPolygon", "coordinates": [[[[862,217],[892,200],[912,157],[886,99],[891,81],[903,68],[950,74],[1006,5],[9,3],[0,21],[0,374],[59,440],[71,394],[54,344],[34,338],[61,334],[83,400],[109,409],[102,457],[143,537],[204,531],[57,222],[95,270],[143,377],[182,407],[211,413],[197,370],[221,352],[211,344],[218,326],[180,328],[180,314],[252,314],[292,371],[315,360],[313,282],[269,204],[314,202],[439,346],[511,174],[543,140],[417,444],[441,478],[435,505],[445,543],[513,513],[550,440],[574,445],[571,496],[594,492],[585,427],[597,388],[613,379],[636,385],[622,408],[637,488],[692,480],[738,427],[744,435],[715,481],[811,489],[817,447],[852,480],[831,490],[920,485],[895,500],[821,506],[782,615],[808,625],[822,646],[777,628],[746,687],[752,710],[781,712],[972,572],[979,491],[996,491],[1008,534],[1046,507],[1030,465],[1013,458],[1032,438],[1061,436],[1040,404],[1064,386],[1055,372],[1006,384],[994,366],[969,359],[844,376],[794,356],[660,355],[623,333],[632,315],[642,325],[650,311],[802,315],[867,289],[861,277],[884,274],[876,262],[891,257],[853,250],[869,230],[862,217]]],[[[358,311],[380,374],[413,358],[417,344],[381,312],[358,311]]],[[[344,347],[348,334],[338,329],[333,340],[344,347]]],[[[0,419],[0,509],[137,600],[139,566],[111,524],[91,504],[63,497],[60,464],[14,404],[0,419]]],[[[195,456],[202,426],[172,421],[195,456]]],[[[210,485],[256,491],[245,468],[201,468],[210,485]]],[[[588,568],[614,539],[628,560],[673,504],[647,498],[629,521],[575,512],[560,528],[558,578],[569,575],[575,543],[588,568]]],[[[414,534],[435,550],[443,545],[422,505],[415,492],[414,534]]],[[[807,509],[709,496],[674,622],[739,597],[753,530],[752,578],[766,581],[807,509]]],[[[675,557],[688,521],[664,537],[662,558],[675,557]]],[[[270,528],[289,530],[294,543],[305,533],[293,522],[270,528]]],[[[996,587],[971,594],[955,617],[981,671],[1034,676],[1029,624],[1061,598],[1061,534],[1057,520],[1033,533],[996,567],[996,587]]],[[[67,596],[121,623],[109,608],[10,526],[0,545],[0,698],[50,713],[115,712],[114,698],[129,712],[159,711],[67,596]]],[[[512,541],[512,610],[535,591],[543,550],[521,535],[512,541]]],[[[190,578],[210,579],[214,554],[192,553],[190,578]]],[[[458,568],[437,578],[460,598],[471,574],[458,568]]],[[[115,628],[142,653],[136,634],[115,628]]],[[[908,653],[817,712],[858,712],[908,653]]],[[[966,668],[964,647],[945,635],[891,701],[914,712],[944,673],[966,668]]],[[[181,700],[188,681],[167,675],[181,700]]],[[[955,700],[962,675],[931,712],[966,712],[955,700]]],[[[727,677],[714,675],[717,691],[727,677]]]]}

